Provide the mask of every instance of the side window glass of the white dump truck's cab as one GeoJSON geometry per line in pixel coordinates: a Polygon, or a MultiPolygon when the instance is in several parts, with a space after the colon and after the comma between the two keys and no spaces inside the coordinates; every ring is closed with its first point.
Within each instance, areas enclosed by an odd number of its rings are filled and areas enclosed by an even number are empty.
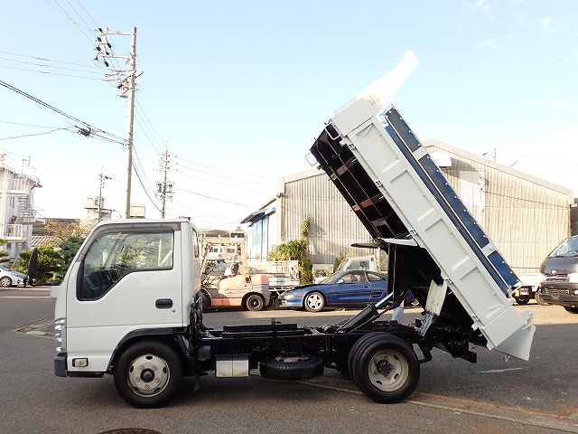
{"type": "Polygon", "coordinates": [[[111,231],[90,247],[81,269],[79,300],[104,296],[126,274],[172,269],[172,231],[111,231]]]}

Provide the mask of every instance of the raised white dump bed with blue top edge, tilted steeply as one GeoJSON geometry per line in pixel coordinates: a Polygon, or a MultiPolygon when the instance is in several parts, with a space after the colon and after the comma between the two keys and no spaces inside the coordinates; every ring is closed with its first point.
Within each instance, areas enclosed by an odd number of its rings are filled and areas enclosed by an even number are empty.
{"type": "Polygon", "coordinates": [[[535,326],[531,312],[517,313],[508,299],[516,275],[393,105],[392,93],[383,94],[395,91],[400,72],[415,64],[406,53],[396,70],[338,109],[312,155],[375,244],[389,251],[395,298],[427,287],[423,334],[439,316],[467,315],[489,349],[527,360],[535,326]]]}

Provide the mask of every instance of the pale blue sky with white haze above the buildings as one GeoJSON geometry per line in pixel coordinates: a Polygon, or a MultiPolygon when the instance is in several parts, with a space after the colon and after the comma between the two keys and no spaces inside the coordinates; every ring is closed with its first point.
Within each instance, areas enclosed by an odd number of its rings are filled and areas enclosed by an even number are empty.
{"type": "Polygon", "coordinates": [[[85,217],[101,174],[105,207],[125,212],[128,106],[107,74],[128,68],[95,60],[105,26],[119,56],[136,27],[130,201],[148,218],[166,152],[165,216],[238,227],[278,177],[312,168],[324,122],[407,50],[420,63],[394,100],[417,137],[578,195],[576,1],[6,2],[0,153],[38,176],[45,217],[85,217]]]}

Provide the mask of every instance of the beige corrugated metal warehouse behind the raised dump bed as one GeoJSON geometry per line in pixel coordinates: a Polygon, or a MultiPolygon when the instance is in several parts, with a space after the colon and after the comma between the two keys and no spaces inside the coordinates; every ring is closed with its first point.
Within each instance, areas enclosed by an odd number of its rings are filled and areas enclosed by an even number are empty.
{"type": "MultiPolygon", "coordinates": [[[[436,140],[425,140],[424,146],[518,274],[538,272],[545,256],[570,235],[571,190],[436,140]]],[[[311,222],[307,240],[313,264],[333,264],[350,252],[372,253],[350,247],[368,241],[368,231],[324,172],[280,178],[277,192],[243,221],[251,225],[252,257],[266,258],[275,245],[303,238],[305,219],[311,222]]]]}

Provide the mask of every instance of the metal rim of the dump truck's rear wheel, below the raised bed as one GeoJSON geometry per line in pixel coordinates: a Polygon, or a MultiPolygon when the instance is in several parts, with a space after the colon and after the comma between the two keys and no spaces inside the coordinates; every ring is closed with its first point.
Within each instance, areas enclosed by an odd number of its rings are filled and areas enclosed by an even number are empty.
{"type": "Polygon", "coordinates": [[[406,358],[392,349],[376,353],[369,361],[369,381],[382,392],[395,392],[409,378],[406,358]]]}

